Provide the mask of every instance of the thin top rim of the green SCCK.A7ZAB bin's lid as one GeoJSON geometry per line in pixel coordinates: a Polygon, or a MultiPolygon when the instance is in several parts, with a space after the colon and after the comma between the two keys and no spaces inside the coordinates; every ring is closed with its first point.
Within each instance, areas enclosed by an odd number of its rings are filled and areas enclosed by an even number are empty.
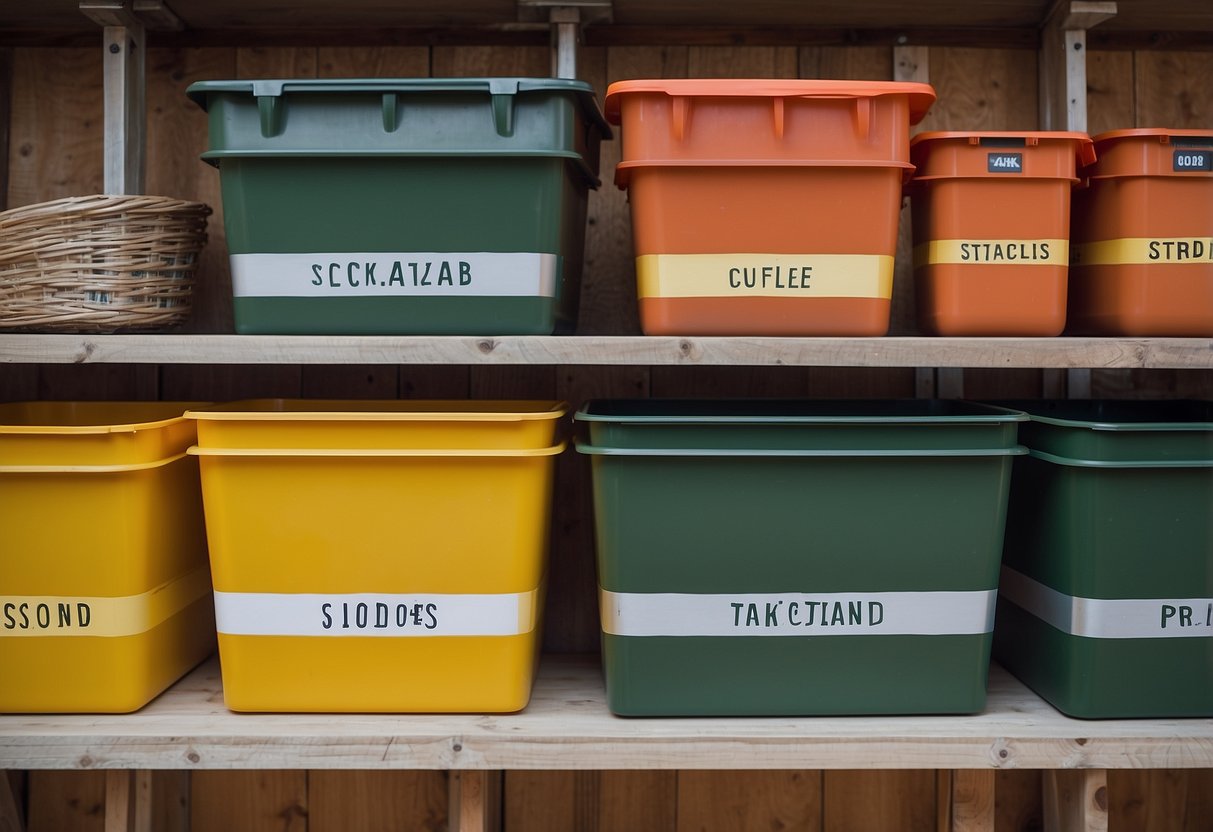
{"type": "Polygon", "coordinates": [[[244,80],[194,81],[186,87],[186,96],[204,110],[210,104],[211,93],[234,92],[256,97],[280,97],[300,92],[408,92],[449,93],[485,92],[489,95],[517,95],[526,92],[571,92],[581,102],[586,119],[602,131],[603,138],[611,138],[610,125],[603,118],[587,81],[569,78],[275,78],[244,80]]]}

